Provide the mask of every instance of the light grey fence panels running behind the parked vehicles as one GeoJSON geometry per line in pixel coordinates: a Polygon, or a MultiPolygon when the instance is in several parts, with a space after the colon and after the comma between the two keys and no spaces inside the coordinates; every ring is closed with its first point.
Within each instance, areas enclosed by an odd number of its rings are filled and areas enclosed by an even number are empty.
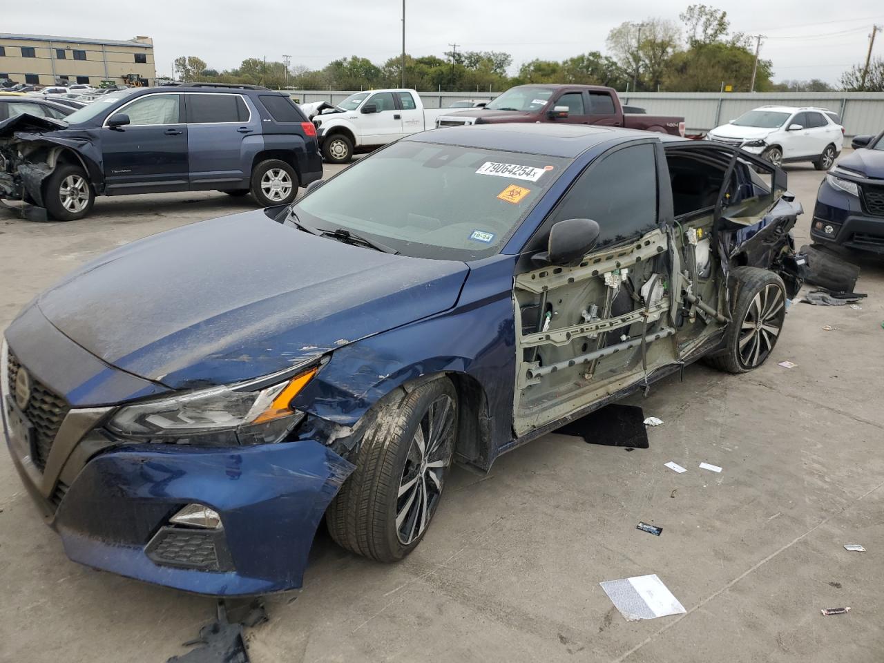
{"type": "MultiPolygon", "coordinates": [[[[287,90],[299,103],[338,103],[353,92],[287,90]]],[[[447,108],[464,100],[488,101],[499,92],[422,92],[427,108],[447,108]]],[[[884,92],[636,92],[621,93],[621,102],[654,115],[682,115],[689,132],[708,131],[758,106],[819,106],[842,117],[849,136],[884,130],[884,92]]]]}

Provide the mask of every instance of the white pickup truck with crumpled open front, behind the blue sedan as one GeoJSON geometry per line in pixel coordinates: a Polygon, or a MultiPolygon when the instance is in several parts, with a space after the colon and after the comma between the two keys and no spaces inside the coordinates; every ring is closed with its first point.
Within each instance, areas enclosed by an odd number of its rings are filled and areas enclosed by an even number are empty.
{"type": "Polygon", "coordinates": [[[408,89],[357,92],[336,106],[304,103],[301,110],[316,125],[319,147],[330,164],[346,164],[355,151],[370,151],[402,136],[432,129],[439,115],[451,112],[423,108],[421,97],[408,89]]]}

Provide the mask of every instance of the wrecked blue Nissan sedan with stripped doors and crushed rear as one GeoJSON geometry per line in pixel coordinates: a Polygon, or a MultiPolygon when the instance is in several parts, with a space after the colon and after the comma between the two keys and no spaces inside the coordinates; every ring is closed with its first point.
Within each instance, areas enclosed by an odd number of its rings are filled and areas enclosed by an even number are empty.
{"type": "Polygon", "coordinates": [[[149,583],[300,587],[323,521],[400,560],[453,462],[487,471],[700,358],[765,362],[800,212],[720,143],[416,134],[38,296],[0,355],[11,459],[72,560],[149,583]]]}

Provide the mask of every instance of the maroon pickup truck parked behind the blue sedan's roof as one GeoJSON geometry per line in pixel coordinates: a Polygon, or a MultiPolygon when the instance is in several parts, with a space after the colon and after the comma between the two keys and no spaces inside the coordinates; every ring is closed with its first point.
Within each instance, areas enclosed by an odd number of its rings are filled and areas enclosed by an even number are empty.
{"type": "Polygon", "coordinates": [[[566,122],[574,125],[625,126],[684,135],[684,118],[624,113],[613,88],[595,85],[520,85],[509,88],[482,109],[461,110],[436,119],[436,126],[501,122],[566,122]]]}

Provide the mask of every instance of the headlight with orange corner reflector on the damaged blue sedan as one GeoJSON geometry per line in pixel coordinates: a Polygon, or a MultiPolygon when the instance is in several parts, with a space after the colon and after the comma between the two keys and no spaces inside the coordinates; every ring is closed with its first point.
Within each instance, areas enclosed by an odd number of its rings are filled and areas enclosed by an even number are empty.
{"type": "Polygon", "coordinates": [[[278,442],[304,418],[290,404],[319,368],[312,366],[279,382],[262,377],[124,406],[107,429],[138,442],[216,446],[278,442]]]}

